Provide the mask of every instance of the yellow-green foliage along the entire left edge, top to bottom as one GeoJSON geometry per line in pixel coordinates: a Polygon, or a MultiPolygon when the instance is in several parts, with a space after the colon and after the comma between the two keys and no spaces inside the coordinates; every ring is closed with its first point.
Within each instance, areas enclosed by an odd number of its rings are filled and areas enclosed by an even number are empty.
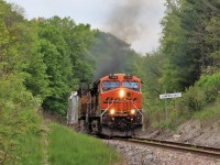
{"type": "Polygon", "coordinates": [[[11,4],[0,1],[0,164],[14,164],[29,154],[20,150],[22,142],[16,136],[40,130],[36,110],[41,99],[24,86],[29,75],[24,70],[30,66],[26,57],[32,53],[24,44],[34,44],[25,34],[29,24],[11,4]]]}

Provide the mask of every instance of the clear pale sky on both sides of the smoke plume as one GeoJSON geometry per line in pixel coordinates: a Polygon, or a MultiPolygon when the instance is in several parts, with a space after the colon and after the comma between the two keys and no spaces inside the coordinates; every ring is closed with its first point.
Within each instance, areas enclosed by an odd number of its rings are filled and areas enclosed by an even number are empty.
{"type": "MultiPolygon", "coordinates": [[[[25,16],[51,18],[58,15],[61,18],[70,16],[77,24],[89,23],[92,29],[99,29],[103,32],[109,31],[108,18],[114,11],[116,3],[121,0],[6,0],[14,2],[25,10],[25,16]]],[[[124,0],[134,3],[134,0],[124,0]]],[[[139,0],[135,0],[139,1],[139,0]]],[[[158,46],[162,28],[160,21],[164,15],[165,0],[143,0],[141,25],[144,28],[143,34],[135,41],[130,41],[132,48],[145,54],[158,46]]]]}

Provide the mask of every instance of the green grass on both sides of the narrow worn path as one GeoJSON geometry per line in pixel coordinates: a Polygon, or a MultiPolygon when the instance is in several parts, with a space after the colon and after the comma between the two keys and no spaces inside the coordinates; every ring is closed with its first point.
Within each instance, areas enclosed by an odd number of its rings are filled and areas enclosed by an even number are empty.
{"type": "Polygon", "coordinates": [[[19,155],[20,151],[23,153],[16,164],[41,165],[46,161],[51,165],[109,165],[122,161],[114,148],[98,139],[74,132],[57,123],[46,124],[48,129],[43,133],[29,133],[15,138],[22,145],[16,147],[18,153],[14,155],[19,155]]]}

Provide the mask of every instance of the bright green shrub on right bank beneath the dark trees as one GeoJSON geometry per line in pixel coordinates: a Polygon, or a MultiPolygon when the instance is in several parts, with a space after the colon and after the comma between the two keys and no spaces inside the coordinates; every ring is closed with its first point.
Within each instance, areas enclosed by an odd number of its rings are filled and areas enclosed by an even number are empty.
{"type": "MultiPolygon", "coordinates": [[[[177,101],[177,109],[183,116],[190,117],[196,112],[196,117],[212,116],[207,111],[216,113],[213,102],[219,98],[220,91],[220,73],[201,76],[195,86],[189,87],[177,101]],[[198,112],[202,110],[201,112],[198,112]],[[209,113],[209,114],[208,114],[209,113]]],[[[208,117],[207,117],[208,118],[208,117]]]]}

